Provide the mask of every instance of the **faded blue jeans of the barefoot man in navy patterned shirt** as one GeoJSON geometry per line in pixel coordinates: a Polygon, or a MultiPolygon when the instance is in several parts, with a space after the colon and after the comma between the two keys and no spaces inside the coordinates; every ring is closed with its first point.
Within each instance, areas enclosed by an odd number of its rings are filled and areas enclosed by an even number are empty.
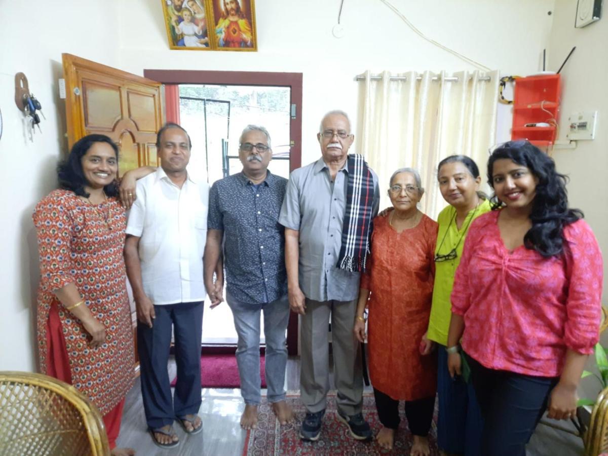
{"type": "Polygon", "coordinates": [[[260,313],[264,312],[266,336],[266,384],[268,402],[285,399],[287,345],[285,331],[289,320],[287,295],[269,303],[248,304],[235,300],[226,292],[238,334],[237,364],[241,379],[241,396],[246,404],[259,405],[260,395],[260,313]]]}

